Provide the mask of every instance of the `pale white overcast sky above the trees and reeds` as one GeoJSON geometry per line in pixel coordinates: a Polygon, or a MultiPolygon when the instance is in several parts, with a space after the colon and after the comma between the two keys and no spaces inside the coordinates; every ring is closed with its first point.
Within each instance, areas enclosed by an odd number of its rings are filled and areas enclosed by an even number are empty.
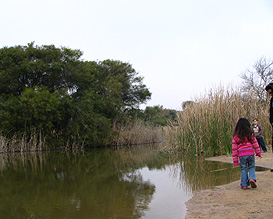
{"type": "MultiPolygon", "coordinates": [[[[1,0],[0,47],[54,44],[129,62],[147,106],[181,109],[273,59],[272,0],[1,0]]],[[[143,106],[142,106],[143,107],[143,106]]]]}

